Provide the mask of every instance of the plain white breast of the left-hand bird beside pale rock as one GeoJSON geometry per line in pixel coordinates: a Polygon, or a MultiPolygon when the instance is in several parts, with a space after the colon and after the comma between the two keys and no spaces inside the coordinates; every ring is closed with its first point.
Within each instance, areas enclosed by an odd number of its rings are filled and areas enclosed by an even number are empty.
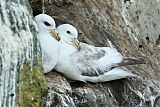
{"type": "Polygon", "coordinates": [[[39,33],[39,40],[42,49],[44,73],[51,71],[58,61],[60,44],[50,33],[39,33]]]}

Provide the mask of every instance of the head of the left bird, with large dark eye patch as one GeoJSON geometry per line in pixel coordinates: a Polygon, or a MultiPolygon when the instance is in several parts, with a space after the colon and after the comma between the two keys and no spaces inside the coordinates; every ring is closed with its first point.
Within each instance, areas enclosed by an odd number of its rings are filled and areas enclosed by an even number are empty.
{"type": "Polygon", "coordinates": [[[39,32],[49,32],[57,41],[60,41],[60,36],[55,31],[56,24],[54,19],[47,14],[39,14],[35,16],[35,21],[39,32]]]}

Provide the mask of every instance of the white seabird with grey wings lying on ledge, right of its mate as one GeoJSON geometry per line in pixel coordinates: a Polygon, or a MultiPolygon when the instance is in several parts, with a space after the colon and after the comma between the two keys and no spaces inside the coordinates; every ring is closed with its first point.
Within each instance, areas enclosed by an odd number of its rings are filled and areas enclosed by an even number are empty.
{"type": "MultiPolygon", "coordinates": [[[[78,32],[70,24],[60,25],[56,30],[61,37],[61,50],[54,69],[67,78],[84,82],[105,82],[136,76],[118,67],[126,65],[122,62],[126,62],[123,60],[127,58],[123,58],[115,48],[95,47],[79,42],[78,32]]],[[[130,59],[138,62],[134,58],[130,59]]],[[[140,60],[140,63],[143,61],[140,60]]]]}

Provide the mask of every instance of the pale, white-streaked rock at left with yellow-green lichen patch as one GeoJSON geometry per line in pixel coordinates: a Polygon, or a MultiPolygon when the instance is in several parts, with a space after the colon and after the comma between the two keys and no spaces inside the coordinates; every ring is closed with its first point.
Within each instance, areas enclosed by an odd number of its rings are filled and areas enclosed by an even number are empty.
{"type": "Polygon", "coordinates": [[[0,107],[39,106],[47,88],[35,25],[28,1],[0,1],[0,107]]]}

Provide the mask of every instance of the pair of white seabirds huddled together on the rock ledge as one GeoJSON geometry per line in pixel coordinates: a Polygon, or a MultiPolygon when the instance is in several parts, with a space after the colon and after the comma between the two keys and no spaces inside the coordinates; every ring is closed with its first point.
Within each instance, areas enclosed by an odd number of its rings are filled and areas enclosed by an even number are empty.
{"type": "Polygon", "coordinates": [[[136,75],[121,68],[143,64],[143,60],[123,57],[114,47],[95,47],[78,41],[78,32],[70,24],[55,27],[46,14],[35,16],[42,49],[44,73],[52,69],[69,79],[83,82],[105,82],[136,75]]]}

